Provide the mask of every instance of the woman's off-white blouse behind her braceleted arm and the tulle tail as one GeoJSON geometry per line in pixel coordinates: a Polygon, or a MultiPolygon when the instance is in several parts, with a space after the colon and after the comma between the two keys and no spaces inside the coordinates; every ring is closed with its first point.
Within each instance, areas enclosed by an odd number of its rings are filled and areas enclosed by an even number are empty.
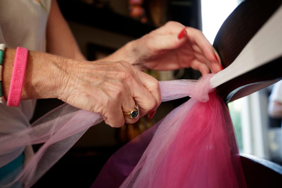
{"type": "MultiPolygon", "coordinates": [[[[51,0],[0,0],[0,43],[6,44],[7,48],[21,46],[46,52],[46,24],[50,8],[51,0]]],[[[0,104],[0,136],[30,126],[35,103],[36,100],[22,100],[18,108],[0,104]]],[[[24,149],[0,153],[0,167],[14,160],[24,149]]]]}

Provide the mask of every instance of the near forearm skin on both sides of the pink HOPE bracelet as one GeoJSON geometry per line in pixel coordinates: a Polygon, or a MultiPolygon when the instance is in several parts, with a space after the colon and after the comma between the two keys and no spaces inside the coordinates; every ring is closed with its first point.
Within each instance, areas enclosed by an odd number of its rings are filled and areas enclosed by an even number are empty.
{"type": "MultiPolygon", "coordinates": [[[[9,94],[15,54],[15,49],[8,48],[4,55],[2,87],[6,99],[9,94]]],[[[57,98],[61,90],[64,76],[62,70],[66,61],[68,59],[59,56],[29,51],[21,100],[57,98]]]]}

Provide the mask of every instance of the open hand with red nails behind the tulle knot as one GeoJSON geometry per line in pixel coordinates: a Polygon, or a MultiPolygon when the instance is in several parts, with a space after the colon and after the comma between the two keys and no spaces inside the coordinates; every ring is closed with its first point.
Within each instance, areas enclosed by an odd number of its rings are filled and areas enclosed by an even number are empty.
{"type": "Polygon", "coordinates": [[[132,41],[130,48],[135,56],[132,64],[140,69],[191,67],[202,75],[221,70],[219,56],[203,33],[174,21],[132,41]]]}

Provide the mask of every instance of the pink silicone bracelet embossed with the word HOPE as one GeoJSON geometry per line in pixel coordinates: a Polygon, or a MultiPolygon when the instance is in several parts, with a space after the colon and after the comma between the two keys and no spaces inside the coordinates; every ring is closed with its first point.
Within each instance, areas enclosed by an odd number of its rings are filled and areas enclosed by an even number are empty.
{"type": "Polygon", "coordinates": [[[24,73],[26,72],[26,61],[28,49],[18,47],[12,73],[12,79],[7,100],[8,106],[18,107],[21,100],[21,91],[24,84],[24,73]]]}

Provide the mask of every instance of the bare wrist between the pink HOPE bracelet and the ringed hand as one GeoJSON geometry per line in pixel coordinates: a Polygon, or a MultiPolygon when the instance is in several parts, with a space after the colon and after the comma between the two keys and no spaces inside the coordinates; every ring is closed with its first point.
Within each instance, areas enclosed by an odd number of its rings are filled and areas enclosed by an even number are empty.
{"type": "Polygon", "coordinates": [[[22,97],[58,98],[63,86],[67,58],[30,51],[22,97]],[[34,61],[33,61],[34,59],[34,61]]]}

